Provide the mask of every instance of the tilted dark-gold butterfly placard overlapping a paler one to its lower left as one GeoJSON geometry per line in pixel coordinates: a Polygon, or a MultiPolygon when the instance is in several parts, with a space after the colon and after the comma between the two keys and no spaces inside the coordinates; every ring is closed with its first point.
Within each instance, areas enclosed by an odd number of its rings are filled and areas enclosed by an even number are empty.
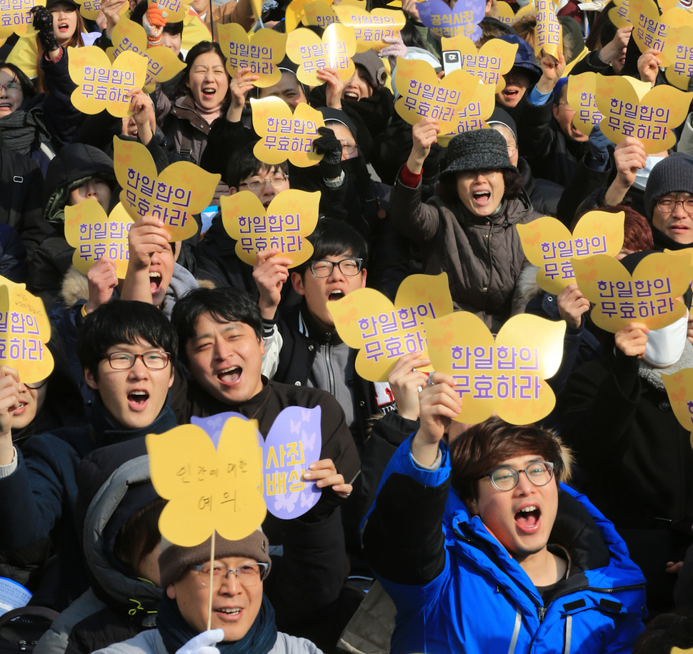
{"type": "Polygon", "coordinates": [[[214,197],[221,175],[191,161],[175,161],[156,174],[154,159],[141,143],[113,139],[113,167],[123,189],[120,201],[135,219],[154,216],[166,226],[171,241],[184,241],[197,231],[193,218],[214,197]]]}

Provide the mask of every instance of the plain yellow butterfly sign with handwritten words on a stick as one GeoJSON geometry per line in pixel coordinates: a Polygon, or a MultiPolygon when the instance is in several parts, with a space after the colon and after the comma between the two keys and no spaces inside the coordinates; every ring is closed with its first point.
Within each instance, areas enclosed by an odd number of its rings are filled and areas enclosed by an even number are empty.
{"type": "Polygon", "coordinates": [[[171,543],[192,547],[216,531],[241,540],[262,524],[262,458],[257,421],[229,418],[219,446],[196,425],[146,436],[151,483],[169,500],[159,531],[171,543]]]}

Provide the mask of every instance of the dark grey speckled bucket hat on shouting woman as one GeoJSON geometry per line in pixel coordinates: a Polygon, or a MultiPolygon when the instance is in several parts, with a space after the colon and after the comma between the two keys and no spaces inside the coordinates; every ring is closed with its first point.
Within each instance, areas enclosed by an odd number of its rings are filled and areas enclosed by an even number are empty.
{"type": "Polygon", "coordinates": [[[467,171],[503,170],[517,172],[502,134],[495,129],[473,129],[452,137],[447,146],[447,167],[440,178],[467,171]]]}

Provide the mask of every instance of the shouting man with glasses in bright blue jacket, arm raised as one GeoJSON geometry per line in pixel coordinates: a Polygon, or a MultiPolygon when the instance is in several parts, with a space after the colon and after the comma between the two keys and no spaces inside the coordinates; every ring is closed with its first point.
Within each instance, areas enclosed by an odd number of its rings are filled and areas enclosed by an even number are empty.
{"type": "Polygon", "coordinates": [[[454,378],[431,381],[419,431],[364,518],[365,554],[397,606],[390,652],[630,652],[644,578],[566,485],[570,452],[552,431],[496,417],[448,445],[454,378]]]}

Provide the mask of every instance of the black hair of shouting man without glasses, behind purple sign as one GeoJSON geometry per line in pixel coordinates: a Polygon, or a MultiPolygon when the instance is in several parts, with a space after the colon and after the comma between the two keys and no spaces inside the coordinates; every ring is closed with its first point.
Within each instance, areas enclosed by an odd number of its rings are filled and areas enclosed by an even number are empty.
{"type": "Polygon", "coordinates": [[[258,341],[262,337],[262,318],[256,301],[245,291],[231,286],[220,288],[196,288],[186,293],[174,306],[171,324],[179,338],[181,361],[187,361],[185,346],[195,336],[197,321],[209,313],[218,323],[245,323],[255,332],[258,341]]]}

